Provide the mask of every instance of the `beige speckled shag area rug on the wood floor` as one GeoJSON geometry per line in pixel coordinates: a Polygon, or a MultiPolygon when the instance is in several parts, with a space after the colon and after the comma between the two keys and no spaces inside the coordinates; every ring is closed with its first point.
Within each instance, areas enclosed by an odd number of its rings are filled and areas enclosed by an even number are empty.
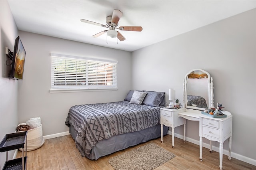
{"type": "Polygon", "coordinates": [[[150,143],[114,156],[108,162],[114,170],[153,170],[174,157],[172,152],[150,143]]]}

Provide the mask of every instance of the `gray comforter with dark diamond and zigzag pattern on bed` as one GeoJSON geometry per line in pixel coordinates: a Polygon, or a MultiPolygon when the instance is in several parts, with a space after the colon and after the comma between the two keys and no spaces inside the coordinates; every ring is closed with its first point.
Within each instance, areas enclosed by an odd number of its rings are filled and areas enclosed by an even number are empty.
{"type": "Polygon", "coordinates": [[[70,108],[65,124],[78,132],[76,147],[86,156],[101,140],[160,124],[160,108],[128,101],[76,105],[70,108]]]}

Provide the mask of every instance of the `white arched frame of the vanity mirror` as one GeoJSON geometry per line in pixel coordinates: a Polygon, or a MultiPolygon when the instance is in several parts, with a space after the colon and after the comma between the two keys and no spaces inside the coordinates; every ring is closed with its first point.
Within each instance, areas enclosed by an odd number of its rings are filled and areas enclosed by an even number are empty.
{"type": "Polygon", "coordinates": [[[204,71],[203,69],[192,69],[190,70],[184,78],[183,82],[183,103],[184,103],[184,108],[187,109],[197,109],[197,110],[205,110],[205,108],[200,108],[200,107],[192,107],[188,106],[188,100],[187,100],[187,77],[192,71],[202,71],[203,73],[206,73],[208,76],[207,82],[208,82],[208,109],[211,107],[214,107],[214,100],[213,100],[213,78],[210,76],[210,74],[207,71],[204,71]]]}

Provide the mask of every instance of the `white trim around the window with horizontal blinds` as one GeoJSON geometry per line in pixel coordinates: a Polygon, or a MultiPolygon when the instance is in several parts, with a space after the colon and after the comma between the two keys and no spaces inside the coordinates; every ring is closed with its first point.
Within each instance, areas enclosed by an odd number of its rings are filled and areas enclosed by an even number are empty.
{"type": "MultiPolygon", "coordinates": [[[[70,58],[70,59],[82,59],[82,60],[91,60],[91,61],[99,61],[99,62],[107,62],[107,63],[114,63],[117,64],[118,61],[114,60],[107,60],[107,59],[99,59],[99,58],[90,58],[90,57],[79,57],[79,56],[72,56],[72,55],[61,55],[61,54],[56,54],[56,53],[50,53],[51,57],[51,62],[52,62],[52,57],[63,57],[63,58],[70,58]]],[[[117,68],[116,68],[117,69],[117,68]]],[[[116,70],[117,72],[117,70],[116,70]]],[[[51,83],[52,83],[52,63],[51,63],[51,83]]],[[[116,83],[117,83],[117,77],[116,77],[116,83]]],[[[50,88],[50,93],[66,93],[66,92],[83,92],[83,91],[116,91],[118,90],[118,87],[84,87],[84,88],[62,88],[62,89],[52,89],[52,85],[50,88]]]]}

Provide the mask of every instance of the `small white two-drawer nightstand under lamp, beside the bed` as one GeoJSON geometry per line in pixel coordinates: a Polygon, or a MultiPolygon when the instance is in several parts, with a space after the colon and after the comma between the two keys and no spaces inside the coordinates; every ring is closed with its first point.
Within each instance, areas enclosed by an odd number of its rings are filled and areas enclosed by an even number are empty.
{"type": "Polygon", "coordinates": [[[166,127],[172,128],[172,148],[174,148],[174,128],[180,125],[184,125],[184,142],[186,136],[186,119],[183,117],[178,117],[178,113],[184,112],[184,108],[180,109],[168,109],[168,108],[161,108],[161,142],[163,142],[163,125],[166,127]]]}

